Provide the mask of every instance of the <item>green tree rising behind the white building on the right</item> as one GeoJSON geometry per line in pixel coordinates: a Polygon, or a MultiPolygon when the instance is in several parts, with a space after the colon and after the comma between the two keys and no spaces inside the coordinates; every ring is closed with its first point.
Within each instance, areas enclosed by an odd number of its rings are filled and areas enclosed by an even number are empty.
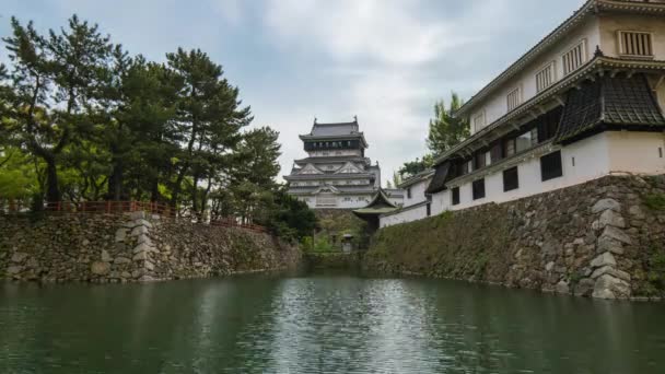
{"type": "Polygon", "coordinates": [[[433,154],[442,154],[468,138],[470,133],[468,120],[455,117],[455,112],[463,105],[464,102],[456,93],[452,94],[448,108],[445,107],[443,101],[434,104],[434,118],[430,120],[430,132],[427,139],[428,148],[433,154]]]}

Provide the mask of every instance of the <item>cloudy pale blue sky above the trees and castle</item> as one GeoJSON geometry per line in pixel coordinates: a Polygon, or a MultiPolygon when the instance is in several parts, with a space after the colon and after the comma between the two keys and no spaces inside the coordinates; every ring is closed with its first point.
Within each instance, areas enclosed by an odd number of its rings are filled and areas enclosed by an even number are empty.
{"type": "MultiPolygon", "coordinates": [[[[452,92],[469,98],[583,0],[3,0],[46,32],[72,14],[130,54],[164,61],[200,48],[280,132],[282,173],[305,156],[301,133],[358,116],[384,182],[427,152],[429,119],[452,92]]],[[[7,61],[7,50],[0,50],[7,61]]]]}

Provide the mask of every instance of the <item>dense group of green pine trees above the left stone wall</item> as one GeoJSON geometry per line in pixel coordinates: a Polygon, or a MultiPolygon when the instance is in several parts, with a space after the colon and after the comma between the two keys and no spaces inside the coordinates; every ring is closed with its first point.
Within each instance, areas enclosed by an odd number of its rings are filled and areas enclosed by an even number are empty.
{"type": "Polygon", "coordinates": [[[246,129],[249,106],[206,52],[178,48],[150,61],[75,15],[46,34],[15,17],[11,30],[2,38],[10,63],[0,66],[0,199],[33,209],[154,201],[197,221],[313,230],[312,212],[275,182],[279,133],[246,129]]]}

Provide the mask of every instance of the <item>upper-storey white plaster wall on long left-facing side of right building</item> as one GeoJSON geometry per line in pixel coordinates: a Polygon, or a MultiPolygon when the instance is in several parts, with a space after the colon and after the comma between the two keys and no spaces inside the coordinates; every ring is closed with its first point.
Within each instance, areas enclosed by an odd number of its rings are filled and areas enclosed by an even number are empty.
{"type": "MultiPolygon", "coordinates": [[[[494,93],[487,100],[478,103],[474,107],[474,110],[469,113],[469,118],[471,119],[471,133],[476,131],[472,126],[472,118],[475,118],[476,115],[481,110],[485,110],[486,113],[486,126],[491,125],[493,121],[508,114],[506,96],[515,87],[522,87],[523,103],[536,96],[536,73],[545,68],[549,62],[556,61],[556,80],[561,80],[564,78],[561,57],[582,39],[586,39],[586,60],[588,61],[593,57],[596,46],[600,45],[599,27],[599,21],[597,17],[587,17],[586,22],[573,30],[562,42],[551,46],[547,51],[541,52],[541,56],[523,68],[518,74],[514,75],[501,87],[497,89],[494,93]]],[[[526,51],[530,47],[532,46],[525,46],[524,50],[526,51]]]]}

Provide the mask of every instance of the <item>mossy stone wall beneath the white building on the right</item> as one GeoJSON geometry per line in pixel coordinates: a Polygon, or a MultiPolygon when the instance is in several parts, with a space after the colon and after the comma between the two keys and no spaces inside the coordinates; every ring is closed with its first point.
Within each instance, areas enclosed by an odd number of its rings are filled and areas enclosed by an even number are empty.
{"type": "Polygon", "coordinates": [[[607,176],[382,229],[369,270],[600,299],[665,296],[665,178],[607,176]]]}

